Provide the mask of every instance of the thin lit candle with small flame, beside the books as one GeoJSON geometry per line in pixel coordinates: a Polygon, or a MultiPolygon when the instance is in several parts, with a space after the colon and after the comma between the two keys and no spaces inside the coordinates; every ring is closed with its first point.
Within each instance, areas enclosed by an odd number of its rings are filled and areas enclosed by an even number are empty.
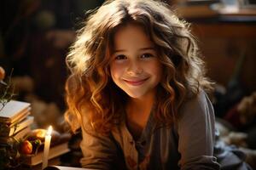
{"type": "Polygon", "coordinates": [[[48,166],[48,155],[49,155],[49,145],[50,145],[50,139],[51,139],[51,131],[52,127],[49,126],[47,133],[45,134],[44,138],[44,155],[43,155],[43,165],[42,169],[48,166]]]}

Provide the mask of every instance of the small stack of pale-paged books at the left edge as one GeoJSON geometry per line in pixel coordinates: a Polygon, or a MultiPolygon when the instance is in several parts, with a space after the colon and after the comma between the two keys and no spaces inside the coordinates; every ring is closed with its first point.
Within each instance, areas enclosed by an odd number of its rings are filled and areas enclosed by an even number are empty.
{"type": "Polygon", "coordinates": [[[0,110],[0,144],[6,144],[10,138],[22,139],[31,131],[34,120],[30,116],[31,105],[26,102],[10,100],[0,110]]]}

